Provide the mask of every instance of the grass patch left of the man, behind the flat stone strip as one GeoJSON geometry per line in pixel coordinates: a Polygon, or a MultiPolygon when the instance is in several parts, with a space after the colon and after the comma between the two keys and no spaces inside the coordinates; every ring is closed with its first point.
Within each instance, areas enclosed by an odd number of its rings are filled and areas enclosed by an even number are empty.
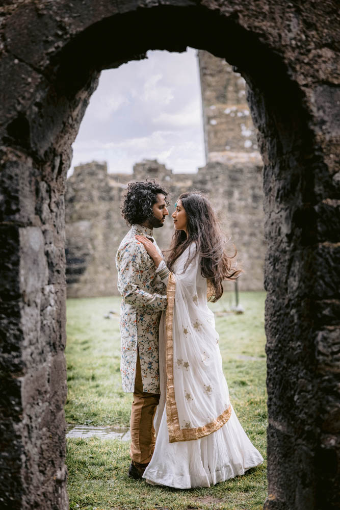
{"type": "Polygon", "coordinates": [[[128,425],[132,394],[120,376],[119,297],[67,300],[68,423],[128,425]],[[117,315],[104,319],[109,311],[117,315]]]}

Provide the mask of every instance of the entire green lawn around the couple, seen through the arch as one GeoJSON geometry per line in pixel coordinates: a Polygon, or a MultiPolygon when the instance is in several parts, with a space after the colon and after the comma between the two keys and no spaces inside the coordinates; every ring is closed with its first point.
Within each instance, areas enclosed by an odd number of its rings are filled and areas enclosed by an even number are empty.
{"type": "MultiPolygon", "coordinates": [[[[216,313],[230,400],[263,466],[211,488],[175,490],[127,478],[129,444],[119,440],[67,441],[70,508],[87,510],[259,510],[266,497],[266,359],[264,292],[240,293],[242,315],[224,313],[233,294],[210,304],[216,313]]],[[[67,301],[68,423],[128,426],[132,394],[121,389],[119,297],[67,301]],[[116,312],[105,319],[109,311],[116,312]]]]}

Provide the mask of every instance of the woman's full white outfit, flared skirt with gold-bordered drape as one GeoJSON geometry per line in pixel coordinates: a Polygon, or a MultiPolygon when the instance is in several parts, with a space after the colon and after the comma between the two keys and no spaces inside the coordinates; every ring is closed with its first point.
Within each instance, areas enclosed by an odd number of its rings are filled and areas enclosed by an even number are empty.
{"type": "MultiPolygon", "coordinates": [[[[263,462],[229,400],[207,282],[192,244],[168,280],[168,308],[160,324],[161,401],[156,444],[143,477],[178,489],[209,487],[263,462]]],[[[165,274],[165,263],[158,270],[165,274]]]]}

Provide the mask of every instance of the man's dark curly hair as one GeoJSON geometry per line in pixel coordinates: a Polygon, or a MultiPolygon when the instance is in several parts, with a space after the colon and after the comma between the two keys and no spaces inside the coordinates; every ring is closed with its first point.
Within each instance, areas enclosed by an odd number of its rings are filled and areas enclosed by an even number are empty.
{"type": "MultiPolygon", "coordinates": [[[[129,183],[124,195],[121,208],[122,216],[128,225],[141,224],[152,218],[152,206],[157,201],[157,195],[161,193],[168,196],[168,191],[154,179],[140,183],[129,183]]],[[[166,200],[168,205],[168,201],[166,200]]]]}

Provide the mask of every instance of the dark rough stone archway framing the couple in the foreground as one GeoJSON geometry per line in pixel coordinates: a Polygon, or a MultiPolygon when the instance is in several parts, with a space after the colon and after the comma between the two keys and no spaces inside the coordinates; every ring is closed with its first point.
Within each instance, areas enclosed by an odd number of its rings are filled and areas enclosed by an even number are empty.
{"type": "Polygon", "coordinates": [[[64,0],[2,8],[2,483],[67,508],[65,176],[103,68],[147,49],[237,66],[265,163],[270,510],[339,504],[337,2],[64,0]]]}

